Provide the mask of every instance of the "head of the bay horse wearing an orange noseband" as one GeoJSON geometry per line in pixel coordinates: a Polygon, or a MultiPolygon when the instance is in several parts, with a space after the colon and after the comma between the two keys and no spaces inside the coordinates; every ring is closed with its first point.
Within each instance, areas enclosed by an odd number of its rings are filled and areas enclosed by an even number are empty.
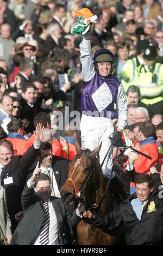
{"type": "Polygon", "coordinates": [[[75,204],[78,199],[86,200],[86,194],[92,195],[95,187],[99,187],[101,175],[101,167],[96,158],[101,145],[93,151],[81,150],[78,141],[75,145],[77,155],[69,163],[68,178],[61,188],[62,203],[66,205],[75,204]],[[86,193],[88,189],[89,193],[86,193]]]}

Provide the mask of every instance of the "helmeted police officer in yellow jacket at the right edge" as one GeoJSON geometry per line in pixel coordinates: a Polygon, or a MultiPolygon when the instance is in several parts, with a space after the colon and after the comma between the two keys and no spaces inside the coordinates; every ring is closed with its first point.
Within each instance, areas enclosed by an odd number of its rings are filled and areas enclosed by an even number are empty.
{"type": "Polygon", "coordinates": [[[148,110],[150,117],[163,115],[163,64],[156,61],[157,56],[157,46],[150,43],[143,54],[145,62],[137,71],[141,92],[139,105],[148,110]]]}

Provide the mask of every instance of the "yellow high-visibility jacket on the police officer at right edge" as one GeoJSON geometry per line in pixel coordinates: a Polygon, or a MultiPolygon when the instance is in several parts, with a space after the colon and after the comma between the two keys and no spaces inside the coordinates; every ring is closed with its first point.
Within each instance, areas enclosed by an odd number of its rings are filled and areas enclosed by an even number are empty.
{"type": "Polygon", "coordinates": [[[137,86],[141,92],[141,102],[149,105],[163,99],[163,64],[154,63],[151,69],[145,70],[143,63],[138,68],[137,86]]]}

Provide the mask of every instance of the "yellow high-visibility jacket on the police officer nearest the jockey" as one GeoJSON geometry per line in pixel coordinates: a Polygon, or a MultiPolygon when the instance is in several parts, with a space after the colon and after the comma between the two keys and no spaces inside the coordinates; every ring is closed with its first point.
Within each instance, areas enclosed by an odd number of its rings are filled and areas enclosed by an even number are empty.
{"type": "Polygon", "coordinates": [[[118,75],[118,79],[120,79],[125,92],[127,92],[130,85],[137,85],[137,69],[139,66],[140,62],[137,57],[128,59],[128,61],[124,63],[123,68],[118,75]]]}

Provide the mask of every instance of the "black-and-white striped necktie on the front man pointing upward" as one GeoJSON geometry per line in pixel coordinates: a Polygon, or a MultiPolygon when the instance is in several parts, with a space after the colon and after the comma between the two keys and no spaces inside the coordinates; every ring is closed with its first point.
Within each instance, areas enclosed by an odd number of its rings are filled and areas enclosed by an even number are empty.
{"type": "Polygon", "coordinates": [[[50,222],[48,201],[42,202],[42,204],[45,207],[45,218],[44,218],[43,223],[41,225],[40,244],[41,245],[48,245],[48,241],[49,241],[49,222],[50,222]]]}

